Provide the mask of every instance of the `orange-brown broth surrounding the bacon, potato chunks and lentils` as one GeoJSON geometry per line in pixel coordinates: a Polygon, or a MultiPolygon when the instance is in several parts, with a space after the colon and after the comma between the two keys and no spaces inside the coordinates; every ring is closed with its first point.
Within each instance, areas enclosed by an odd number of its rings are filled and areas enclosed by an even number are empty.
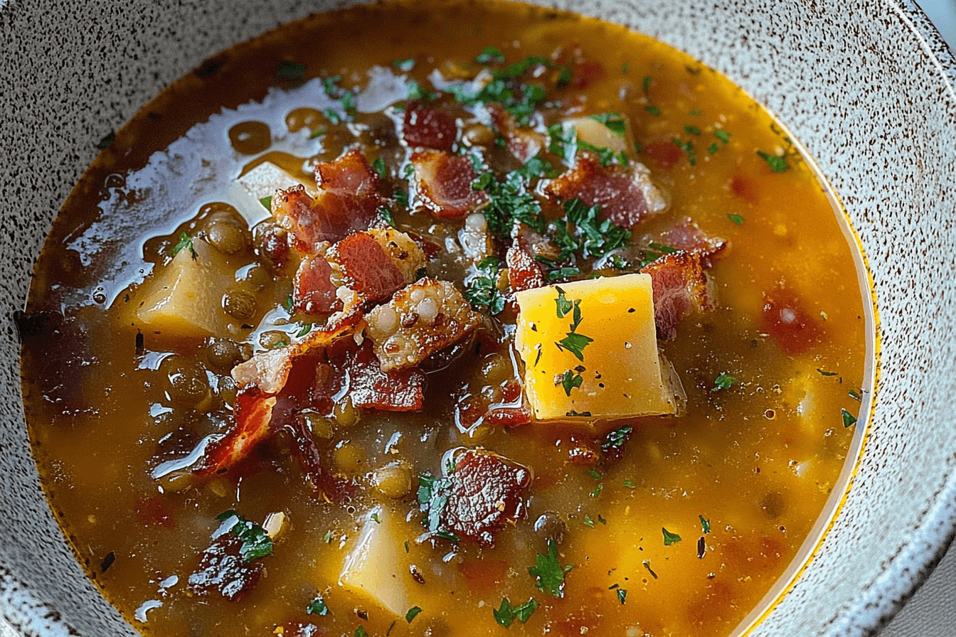
{"type": "MultiPolygon", "coordinates": [[[[499,634],[492,608],[503,597],[540,604],[527,624],[511,626],[515,634],[730,634],[801,546],[815,541],[821,511],[843,492],[841,471],[855,461],[859,436],[844,428],[841,410],[857,414],[859,403],[848,392],[869,391],[872,383],[864,369],[869,299],[860,294],[856,246],[847,243],[812,168],[771,117],[682,53],[618,26],[521,5],[398,6],[402,11],[393,3],[312,16],[207,61],[120,130],[56,219],[28,311],[62,311],[72,321],[54,358],[49,340],[27,340],[24,396],[42,482],[77,557],[144,634],[272,635],[283,627],[292,635],[291,624],[310,622],[330,634],[351,635],[363,626],[373,637],[389,630],[499,634]],[[482,428],[475,437],[459,432],[450,423],[453,395],[468,382],[483,384],[481,361],[470,356],[429,379],[423,413],[366,413],[354,427],[337,430],[329,446],[351,452],[330,449],[328,457],[366,486],[367,474],[399,458],[414,475],[437,473],[443,453],[460,445],[480,445],[532,467],[528,517],[483,550],[416,542],[423,528],[414,491],[393,500],[369,489],[349,506],[316,501],[281,440],[267,442],[257,453],[259,470],[238,481],[152,478],[164,436],[214,432],[225,426],[225,412],[212,417],[169,405],[159,361],[169,352],[205,360],[204,341],[143,329],[147,355],[138,357],[138,329],[125,320],[124,296],[135,297],[144,275],[162,262],[160,253],[204,205],[238,205],[229,184],[258,160],[268,157],[305,177],[307,159],[337,157],[342,144],[334,135],[310,138],[329,125],[322,111],[332,100],[308,78],[341,75],[343,86],[359,91],[357,122],[374,123],[366,111],[380,107],[369,105],[403,96],[365,88],[366,70],[401,76],[393,60],[414,57],[409,76],[424,83],[431,69],[447,68],[445,60],[467,63],[489,45],[509,63],[569,45],[600,60],[602,74],[586,93],[572,87],[560,97],[585,114],[629,117],[642,146],[634,159],[671,199],[662,217],[635,230],[635,240],[655,238],[683,217],[729,240],[730,252],[710,270],[719,308],[685,321],[679,337],[664,345],[683,380],[687,414],[636,421],[623,459],[596,467],[594,478],[588,467],[568,462],[566,426],[482,428]],[[304,64],[308,81],[277,79],[280,60],[304,64]],[[645,76],[651,78],[646,90],[645,76]],[[716,137],[717,130],[727,131],[729,141],[716,137]],[[671,138],[694,142],[695,165],[680,149],[673,166],[663,165],[676,148],[671,138]],[[756,151],[778,149],[788,151],[790,169],[774,173],[756,151]],[[812,318],[819,337],[809,350],[788,354],[763,323],[765,294],[778,288],[812,318]],[[725,372],[738,383],[713,391],[725,372]],[[386,452],[396,435],[395,453],[386,452]],[[409,584],[423,609],[411,623],[337,584],[362,516],[379,499],[400,519],[409,559],[424,575],[424,585],[409,584]],[[274,555],[264,559],[267,576],[238,604],[199,598],[186,587],[215,517],[228,509],[259,523],[273,511],[291,520],[274,555]],[[563,599],[537,590],[527,574],[535,553],[545,551],[532,525],[547,511],[568,525],[560,562],[574,569],[563,599]],[[699,516],[709,520],[709,533],[699,516]],[[664,545],[662,528],[681,541],[664,545]],[[107,556],[115,557],[108,567],[107,556]],[[627,591],[624,603],[618,589],[627,591]],[[329,616],[306,614],[316,592],[329,616]]],[[[343,127],[330,128],[345,136],[343,127]]],[[[382,149],[382,157],[398,165],[401,159],[388,152],[382,149]]],[[[397,222],[426,233],[434,220],[403,213],[397,222]]],[[[430,234],[450,236],[453,229],[430,234]]],[[[253,258],[240,255],[231,265],[241,269],[253,258]]],[[[433,275],[461,282],[461,264],[440,261],[434,268],[433,275]]],[[[279,307],[288,291],[287,283],[270,278],[257,292],[257,319],[261,308],[279,307]]],[[[270,313],[260,328],[240,329],[236,340],[259,347],[263,331],[294,333],[297,325],[272,324],[281,316],[270,313]]],[[[507,362],[506,354],[499,362],[507,362]]],[[[227,375],[210,372],[213,393],[227,375]]]]}

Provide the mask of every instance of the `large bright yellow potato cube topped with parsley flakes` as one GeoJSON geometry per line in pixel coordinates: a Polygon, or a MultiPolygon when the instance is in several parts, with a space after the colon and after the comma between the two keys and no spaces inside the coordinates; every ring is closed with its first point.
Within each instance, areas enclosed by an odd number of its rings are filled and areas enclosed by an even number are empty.
{"type": "Polygon", "coordinates": [[[515,299],[514,344],[536,420],[678,412],[675,392],[683,392],[662,367],[649,275],[537,287],[515,299]]]}

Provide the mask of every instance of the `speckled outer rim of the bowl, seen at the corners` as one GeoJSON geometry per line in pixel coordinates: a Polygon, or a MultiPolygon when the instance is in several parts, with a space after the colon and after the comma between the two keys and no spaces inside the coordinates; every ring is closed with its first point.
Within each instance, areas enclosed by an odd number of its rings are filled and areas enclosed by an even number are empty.
{"type": "MultiPolygon", "coordinates": [[[[0,11],[4,11],[7,4],[5,0],[0,0],[0,11]]],[[[956,96],[956,60],[923,11],[909,0],[887,2],[886,5],[896,11],[906,28],[919,37],[923,56],[936,68],[949,94],[956,96]]],[[[2,24],[3,21],[0,20],[0,26],[2,24]]],[[[0,151],[4,150],[0,148],[0,151]]],[[[0,155],[0,158],[2,157],[0,155]]],[[[0,172],[0,177],[3,176],[5,173],[0,172]]],[[[838,615],[835,614],[826,634],[876,634],[942,559],[948,544],[956,535],[956,473],[952,464],[946,468],[943,476],[945,481],[936,494],[934,505],[923,512],[911,540],[900,547],[885,563],[880,575],[867,583],[850,605],[835,611],[838,615]]],[[[15,576],[0,565],[0,589],[15,589],[15,581],[15,576]]],[[[29,630],[26,635],[48,637],[54,634],[79,634],[60,621],[54,608],[37,603],[29,591],[21,592],[24,599],[20,612],[22,613],[24,608],[32,608],[28,612],[36,613],[36,619],[49,626],[49,630],[29,630]]],[[[11,608],[6,604],[0,604],[0,614],[11,620],[22,616],[11,613],[11,608]]]]}

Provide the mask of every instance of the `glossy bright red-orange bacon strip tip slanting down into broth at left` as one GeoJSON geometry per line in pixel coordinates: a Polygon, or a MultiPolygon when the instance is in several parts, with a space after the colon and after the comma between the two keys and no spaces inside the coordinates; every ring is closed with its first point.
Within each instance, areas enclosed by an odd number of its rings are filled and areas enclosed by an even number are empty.
{"type": "Polygon", "coordinates": [[[233,406],[233,424],[226,435],[206,445],[193,473],[197,476],[221,474],[247,457],[269,435],[273,407],[275,397],[267,397],[259,390],[238,393],[233,406]]]}

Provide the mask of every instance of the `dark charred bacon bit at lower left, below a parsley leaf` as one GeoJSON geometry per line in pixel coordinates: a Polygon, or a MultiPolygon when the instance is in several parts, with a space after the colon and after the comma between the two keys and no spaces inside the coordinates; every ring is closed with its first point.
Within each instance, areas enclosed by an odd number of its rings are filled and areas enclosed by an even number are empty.
{"type": "Polygon", "coordinates": [[[196,595],[216,591],[229,602],[238,602],[249,592],[265,566],[260,562],[246,562],[239,553],[243,541],[231,533],[212,541],[199,560],[199,567],[189,576],[189,590],[196,595]]]}

